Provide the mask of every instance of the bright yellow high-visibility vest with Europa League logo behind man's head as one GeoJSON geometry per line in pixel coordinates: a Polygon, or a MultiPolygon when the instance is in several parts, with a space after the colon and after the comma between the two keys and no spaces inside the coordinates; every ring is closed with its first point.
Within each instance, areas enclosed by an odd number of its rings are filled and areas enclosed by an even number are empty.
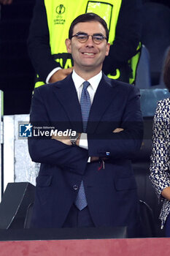
{"type": "MultiPolygon", "coordinates": [[[[112,45],[115,39],[115,29],[122,0],[44,1],[47,12],[51,54],[63,69],[73,66],[72,55],[67,53],[65,45],[65,39],[68,38],[69,35],[69,27],[72,20],[83,13],[94,12],[107,22],[109,43],[112,45]]],[[[108,76],[109,78],[117,79],[120,77],[120,71],[117,69],[115,76],[108,76]]],[[[38,75],[37,78],[39,78],[38,75]]],[[[134,79],[132,78],[132,80],[134,79]]],[[[42,84],[44,84],[42,81],[38,81],[35,87],[42,86],[42,84]]]]}

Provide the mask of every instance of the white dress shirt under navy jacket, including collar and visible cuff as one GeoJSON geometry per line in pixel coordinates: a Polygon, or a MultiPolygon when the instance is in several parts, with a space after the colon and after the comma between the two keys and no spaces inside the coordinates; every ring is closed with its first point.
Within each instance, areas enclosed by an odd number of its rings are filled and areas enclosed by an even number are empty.
{"type": "MultiPolygon", "coordinates": [[[[88,80],[90,85],[88,86],[87,90],[88,90],[88,93],[90,95],[91,104],[93,103],[93,98],[94,98],[94,95],[96,94],[96,90],[98,88],[98,84],[100,83],[101,77],[102,77],[102,72],[99,72],[93,78],[90,78],[88,80]]],[[[82,87],[83,87],[82,83],[85,82],[85,79],[81,78],[80,75],[77,75],[77,73],[74,70],[73,70],[73,73],[72,73],[72,79],[73,79],[74,86],[75,86],[76,91],[77,91],[77,96],[78,96],[78,99],[79,99],[79,102],[80,102],[81,94],[82,94],[82,87]]],[[[87,133],[82,133],[81,134],[79,146],[81,148],[88,149],[87,133]]]]}

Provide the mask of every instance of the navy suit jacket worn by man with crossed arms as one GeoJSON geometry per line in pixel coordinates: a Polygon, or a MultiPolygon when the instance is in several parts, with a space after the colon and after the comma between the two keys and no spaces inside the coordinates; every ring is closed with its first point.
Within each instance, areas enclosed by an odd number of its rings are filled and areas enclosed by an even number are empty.
{"type": "MultiPolygon", "coordinates": [[[[72,75],[41,86],[31,102],[31,124],[82,132],[82,115],[72,75]],[[40,122],[40,123],[39,123],[40,122]]],[[[62,227],[84,181],[96,227],[134,228],[138,221],[136,181],[131,157],[142,142],[139,90],[103,75],[88,119],[88,150],[58,140],[30,138],[31,159],[40,162],[32,225],[62,227]],[[117,127],[123,132],[113,133],[117,127]],[[105,168],[88,157],[107,157],[105,168]]]]}

